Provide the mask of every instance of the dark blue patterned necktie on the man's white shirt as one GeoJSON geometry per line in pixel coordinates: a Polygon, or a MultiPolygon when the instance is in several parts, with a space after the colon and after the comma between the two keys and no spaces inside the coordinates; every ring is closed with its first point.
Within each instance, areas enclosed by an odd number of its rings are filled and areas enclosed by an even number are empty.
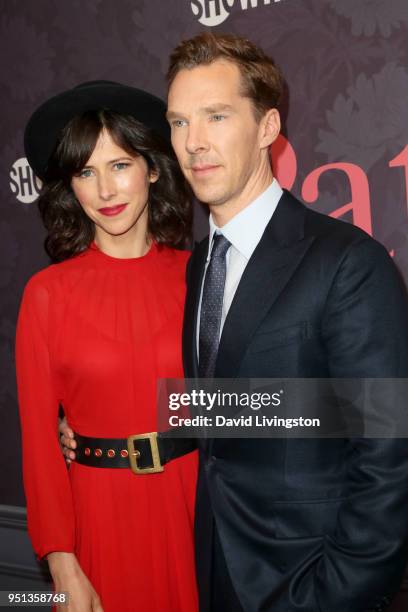
{"type": "Polygon", "coordinates": [[[201,378],[214,375],[220,339],[222,303],[226,276],[225,256],[231,243],[222,234],[215,234],[211,259],[205,274],[200,312],[199,365],[201,378]]]}

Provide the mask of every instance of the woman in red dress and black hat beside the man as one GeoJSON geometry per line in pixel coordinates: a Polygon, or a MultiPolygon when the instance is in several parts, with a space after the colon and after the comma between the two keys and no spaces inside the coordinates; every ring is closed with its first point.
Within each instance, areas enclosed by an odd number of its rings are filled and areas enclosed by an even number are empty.
{"type": "Polygon", "coordinates": [[[90,82],[45,102],[25,134],[56,263],[28,282],[18,320],[24,486],[66,612],[197,609],[196,453],[135,473],[129,452],[136,467],[149,459],[126,440],[157,429],[157,379],[183,376],[191,211],[164,112],[150,94],[90,82]],[[69,470],[61,406],[82,436],[69,470]]]}

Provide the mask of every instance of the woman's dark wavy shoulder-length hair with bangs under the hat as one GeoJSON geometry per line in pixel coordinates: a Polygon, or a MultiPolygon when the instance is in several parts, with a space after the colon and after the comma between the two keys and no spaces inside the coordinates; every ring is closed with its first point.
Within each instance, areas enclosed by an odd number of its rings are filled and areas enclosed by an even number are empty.
{"type": "Polygon", "coordinates": [[[38,207],[52,261],[81,253],[94,239],[95,225],[77,201],[71,180],[86,165],[103,129],[129,155],[142,155],[149,170],[159,174],[149,189],[149,236],[158,244],[185,248],[191,237],[191,192],[170,143],[130,115],[95,110],[71,119],[48,162],[38,207]]]}

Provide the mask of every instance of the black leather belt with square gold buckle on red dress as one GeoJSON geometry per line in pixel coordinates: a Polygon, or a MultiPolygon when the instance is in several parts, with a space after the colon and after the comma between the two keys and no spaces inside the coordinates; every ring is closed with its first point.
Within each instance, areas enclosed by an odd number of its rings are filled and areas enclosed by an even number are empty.
{"type": "Polygon", "coordinates": [[[130,468],[135,474],[162,472],[166,463],[197,448],[193,438],[172,438],[171,432],[156,431],[128,438],[90,438],[76,433],[75,441],[77,463],[101,468],[130,468]]]}

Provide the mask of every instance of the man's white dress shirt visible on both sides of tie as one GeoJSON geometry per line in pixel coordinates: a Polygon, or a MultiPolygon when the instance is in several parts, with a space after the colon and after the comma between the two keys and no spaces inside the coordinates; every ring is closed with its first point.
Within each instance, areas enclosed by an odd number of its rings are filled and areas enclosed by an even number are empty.
{"type": "MultiPolygon", "coordinates": [[[[241,210],[222,228],[215,225],[212,215],[210,215],[210,236],[208,241],[208,254],[205,264],[205,272],[207,271],[208,263],[211,257],[211,248],[214,234],[217,232],[223,234],[231,243],[226,255],[227,273],[224,287],[224,300],[222,305],[221,328],[224,327],[225,319],[227,318],[232,300],[238,288],[239,281],[245,267],[257,247],[266,226],[272,219],[272,215],[276,210],[278,202],[282,196],[282,188],[278,181],[273,179],[270,186],[261,193],[251,204],[241,210]]],[[[203,284],[201,286],[200,304],[197,315],[197,355],[199,355],[199,336],[200,336],[200,314],[201,300],[203,295],[205,273],[203,284]]]]}

